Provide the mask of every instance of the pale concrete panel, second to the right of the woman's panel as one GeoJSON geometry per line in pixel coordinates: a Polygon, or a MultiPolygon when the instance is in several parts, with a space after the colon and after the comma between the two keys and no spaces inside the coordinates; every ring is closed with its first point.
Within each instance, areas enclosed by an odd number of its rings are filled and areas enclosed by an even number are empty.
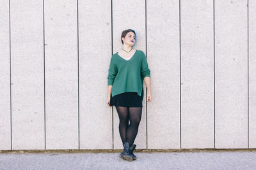
{"type": "Polygon", "coordinates": [[[181,148],[214,148],[213,1],[181,1],[181,148]]]}

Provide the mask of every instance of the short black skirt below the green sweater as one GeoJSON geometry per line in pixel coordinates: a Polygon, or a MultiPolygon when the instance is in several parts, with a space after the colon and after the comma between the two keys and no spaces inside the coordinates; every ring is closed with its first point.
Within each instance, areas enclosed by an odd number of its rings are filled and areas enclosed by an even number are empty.
{"type": "Polygon", "coordinates": [[[110,96],[110,106],[123,106],[123,107],[141,107],[142,97],[137,92],[124,92],[116,94],[116,96],[110,96]]]}

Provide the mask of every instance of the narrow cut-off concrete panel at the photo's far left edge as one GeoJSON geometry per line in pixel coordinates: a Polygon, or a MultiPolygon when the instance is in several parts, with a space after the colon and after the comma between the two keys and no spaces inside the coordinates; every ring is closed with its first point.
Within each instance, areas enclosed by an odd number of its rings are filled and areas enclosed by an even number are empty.
{"type": "Polygon", "coordinates": [[[0,1],[0,150],[11,149],[9,1],[0,1]]]}

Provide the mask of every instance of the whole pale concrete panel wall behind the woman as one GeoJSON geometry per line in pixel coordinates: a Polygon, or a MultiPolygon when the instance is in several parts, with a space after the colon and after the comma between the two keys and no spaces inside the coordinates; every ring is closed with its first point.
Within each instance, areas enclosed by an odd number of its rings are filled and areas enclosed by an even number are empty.
{"type": "Polygon", "coordinates": [[[147,54],[141,149],[256,148],[256,2],[0,1],[0,150],[120,149],[111,55],[147,54]]]}

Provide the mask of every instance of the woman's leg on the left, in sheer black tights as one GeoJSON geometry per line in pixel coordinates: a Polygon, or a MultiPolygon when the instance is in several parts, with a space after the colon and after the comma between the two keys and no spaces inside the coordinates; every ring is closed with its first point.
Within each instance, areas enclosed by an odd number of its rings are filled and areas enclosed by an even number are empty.
{"type": "Polygon", "coordinates": [[[122,142],[125,143],[126,131],[129,124],[128,108],[123,106],[116,106],[116,111],[119,117],[119,133],[122,142]]]}

